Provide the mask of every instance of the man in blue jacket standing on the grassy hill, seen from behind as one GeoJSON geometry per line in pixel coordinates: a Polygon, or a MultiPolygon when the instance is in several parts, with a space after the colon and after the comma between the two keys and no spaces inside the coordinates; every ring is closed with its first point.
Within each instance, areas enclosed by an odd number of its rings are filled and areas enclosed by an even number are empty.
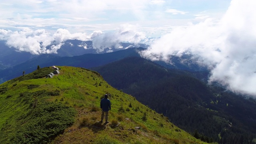
{"type": "Polygon", "coordinates": [[[102,109],[102,114],[101,114],[101,121],[103,122],[104,114],[105,114],[105,124],[108,123],[108,111],[111,110],[111,103],[110,100],[108,99],[108,94],[105,94],[104,98],[100,101],[100,108],[102,109]]]}

